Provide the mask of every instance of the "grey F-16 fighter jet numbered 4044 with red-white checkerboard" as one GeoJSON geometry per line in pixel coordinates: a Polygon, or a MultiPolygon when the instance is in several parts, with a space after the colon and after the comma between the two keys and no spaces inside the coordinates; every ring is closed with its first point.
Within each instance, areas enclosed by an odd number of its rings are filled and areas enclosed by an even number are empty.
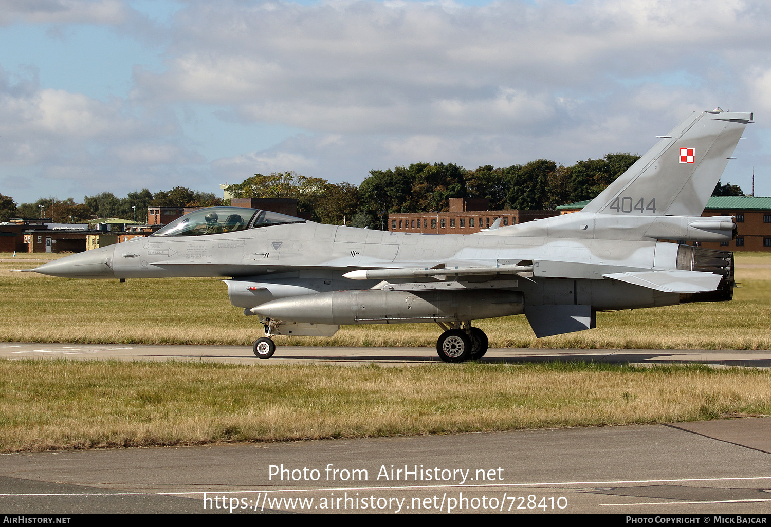
{"type": "Polygon", "coordinates": [[[602,310],[731,300],[732,217],[701,217],[752,113],[695,112],[581,212],[471,235],[325,225],[232,206],[187,214],[150,237],[45,263],[68,278],[228,277],[231,303],[275,335],[340,324],[438,324],[443,361],[482,357],[473,321],[524,314],[537,337],[595,327],[602,310]]]}

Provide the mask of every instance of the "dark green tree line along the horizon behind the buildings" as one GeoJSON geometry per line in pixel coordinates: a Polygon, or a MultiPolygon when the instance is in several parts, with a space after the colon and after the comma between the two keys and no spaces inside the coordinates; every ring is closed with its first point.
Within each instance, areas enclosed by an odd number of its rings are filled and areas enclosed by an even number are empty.
{"type": "MultiPolygon", "coordinates": [[[[608,153],[601,159],[577,161],[572,166],[536,159],[524,165],[496,168],[480,166],[473,170],[455,163],[412,163],[386,170],[370,170],[359,186],[329,183],[293,171],[254,174],[227,187],[234,198],[295,198],[298,212],[307,213],[319,223],[385,229],[389,213],[446,212],[449,199],[487,198],[490,210],[545,210],[577,201],[591,200],[624,173],[640,156],[608,153]]],[[[718,183],[714,195],[743,196],[737,185],[718,183]]],[[[148,206],[219,206],[230,204],[213,193],[175,186],[150,193],[143,189],[119,198],[103,192],[84,196],[82,203],[72,198],[40,198],[18,207],[0,194],[0,221],[8,217],[39,217],[41,208],[57,223],[79,223],[92,217],[122,217],[146,222],[148,206]]]]}

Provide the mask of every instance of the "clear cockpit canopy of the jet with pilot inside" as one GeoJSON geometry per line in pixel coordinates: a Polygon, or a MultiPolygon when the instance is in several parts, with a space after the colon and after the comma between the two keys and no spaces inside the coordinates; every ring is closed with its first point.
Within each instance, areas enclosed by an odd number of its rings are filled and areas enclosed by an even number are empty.
{"type": "Polygon", "coordinates": [[[153,236],[204,236],[284,223],[305,223],[305,220],[270,210],[212,206],[186,214],[153,233],[153,236]]]}

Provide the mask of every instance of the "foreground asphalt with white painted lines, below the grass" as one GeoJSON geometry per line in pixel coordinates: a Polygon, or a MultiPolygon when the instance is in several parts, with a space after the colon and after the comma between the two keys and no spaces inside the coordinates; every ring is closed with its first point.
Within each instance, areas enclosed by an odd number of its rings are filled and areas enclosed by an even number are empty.
{"type": "Polygon", "coordinates": [[[0,455],[5,513],[230,513],[231,507],[234,513],[769,513],[771,418],[0,455]]]}

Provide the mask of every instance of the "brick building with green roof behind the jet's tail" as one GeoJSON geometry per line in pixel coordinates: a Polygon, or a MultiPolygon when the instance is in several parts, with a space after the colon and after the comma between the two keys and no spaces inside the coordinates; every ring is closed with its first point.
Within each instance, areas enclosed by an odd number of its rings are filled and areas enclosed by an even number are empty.
{"type": "MultiPolygon", "coordinates": [[[[577,212],[589,201],[567,203],[557,207],[561,214],[577,212]]],[[[702,217],[732,216],[736,227],[736,239],[726,242],[700,242],[699,247],[742,250],[771,250],[771,197],[763,196],[712,196],[702,217]]],[[[663,241],[663,240],[662,240],[663,241]]]]}

